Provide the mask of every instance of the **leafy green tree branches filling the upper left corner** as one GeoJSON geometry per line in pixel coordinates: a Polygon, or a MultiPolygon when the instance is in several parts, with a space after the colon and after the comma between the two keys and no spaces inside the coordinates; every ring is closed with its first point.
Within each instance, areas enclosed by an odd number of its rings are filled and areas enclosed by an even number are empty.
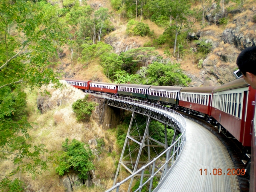
{"type": "Polygon", "coordinates": [[[1,1],[0,17],[0,88],[17,83],[41,87],[50,82],[61,87],[49,67],[56,64],[50,58],[63,42],[54,7],[44,2],[1,1]]]}

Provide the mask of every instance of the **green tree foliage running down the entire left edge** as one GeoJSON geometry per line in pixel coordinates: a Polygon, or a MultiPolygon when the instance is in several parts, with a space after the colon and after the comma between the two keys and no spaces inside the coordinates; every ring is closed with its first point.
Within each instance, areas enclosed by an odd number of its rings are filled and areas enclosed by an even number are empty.
{"type": "MultiPolygon", "coordinates": [[[[26,93],[52,82],[61,87],[60,74],[52,66],[64,33],[54,6],[46,2],[1,0],[0,3],[0,161],[12,161],[15,169],[0,173],[0,187],[18,187],[9,180],[17,171],[35,176],[47,169],[48,151],[32,145],[28,130],[26,93]]],[[[45,90],[46,92],[46,90],[45,90]]],[[[22,184],[19,185],[23,188],[22,184]]],[[[20,190],[21,188],[17,188],[20,190]]],[[[6,188],[7,189],[7,188],[6,188]]]]}

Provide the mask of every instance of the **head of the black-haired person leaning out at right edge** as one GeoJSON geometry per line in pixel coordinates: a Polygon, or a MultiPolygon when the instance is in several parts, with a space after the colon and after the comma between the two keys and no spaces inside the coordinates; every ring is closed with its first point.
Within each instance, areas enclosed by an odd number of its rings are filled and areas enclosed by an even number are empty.
{"type": "Polygon", "coordinates": [[[236,60],[244,80],[256,89],[256,46],[244,49],[236,60]]]}

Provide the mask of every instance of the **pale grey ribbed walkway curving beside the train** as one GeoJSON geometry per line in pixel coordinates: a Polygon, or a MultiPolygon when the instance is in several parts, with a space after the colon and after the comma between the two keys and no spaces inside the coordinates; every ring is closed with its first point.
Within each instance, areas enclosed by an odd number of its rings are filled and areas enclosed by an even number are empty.
{"type": "Polygon", "coordinates": [[[239,192],[238,176],[227,175],[227,169],[235,168],[227,148],[203,126],[189,119],[186,122],[186,145],[180,159],[155,191],[239,192]],[[213,169],[222,169],[222,175],[213,175],[213,169]]]}

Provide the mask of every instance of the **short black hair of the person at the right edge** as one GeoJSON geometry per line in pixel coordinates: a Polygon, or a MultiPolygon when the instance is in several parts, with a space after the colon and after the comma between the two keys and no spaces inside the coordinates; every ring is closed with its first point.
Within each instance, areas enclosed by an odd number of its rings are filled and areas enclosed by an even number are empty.
{"type": "Polygon", "coordinates": [[[256,75],[256,46],[242,50],[238,55],[236,64],[244,76],[246,72],[256,75]]]}

